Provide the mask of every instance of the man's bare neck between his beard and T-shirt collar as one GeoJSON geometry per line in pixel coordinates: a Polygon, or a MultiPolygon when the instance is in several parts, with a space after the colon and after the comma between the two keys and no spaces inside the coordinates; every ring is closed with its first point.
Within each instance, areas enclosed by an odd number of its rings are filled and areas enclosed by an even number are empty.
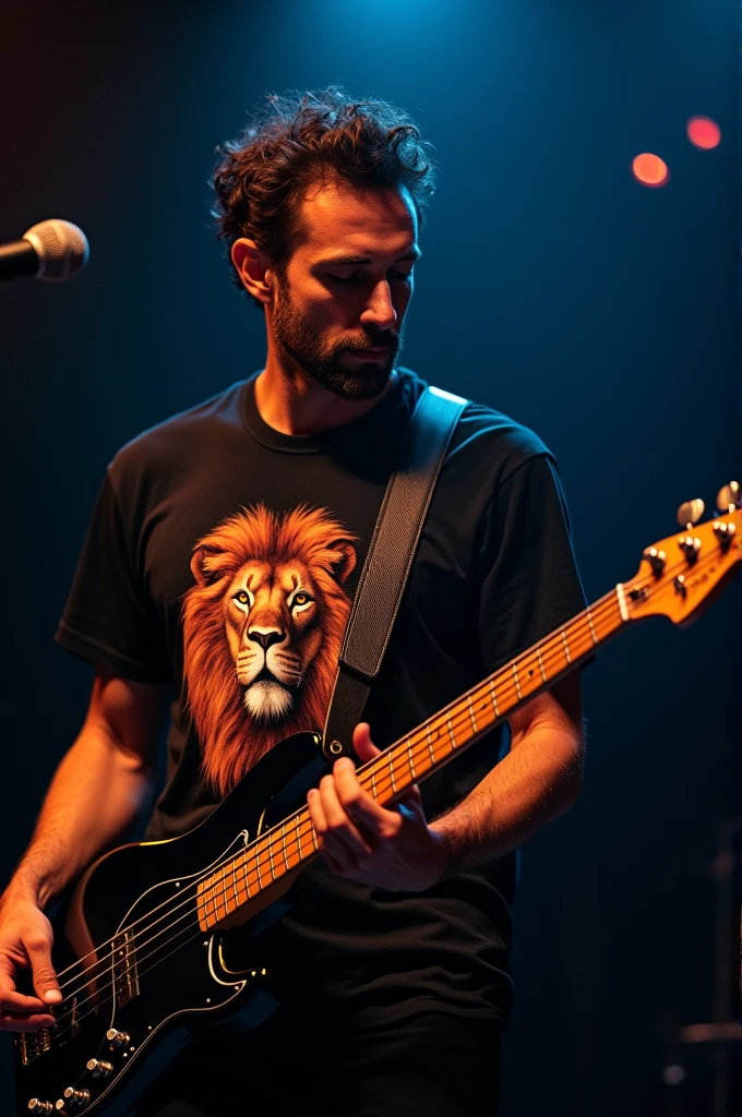
{"type": "Polygon", "coordinates": [[[371,400],[343,400],[297,366],[285,367],[268,351],[266,366],[255,382],[255,403],[263,421],[282,435],[320,435],[360,419],[396,379],[392,372],[381,394],[371,400]]]}

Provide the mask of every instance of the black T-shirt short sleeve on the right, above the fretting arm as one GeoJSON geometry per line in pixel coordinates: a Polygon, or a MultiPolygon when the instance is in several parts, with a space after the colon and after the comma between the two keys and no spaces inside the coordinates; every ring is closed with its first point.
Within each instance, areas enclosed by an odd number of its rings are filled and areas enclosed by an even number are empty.
{"type": "Polygon", "coordinates": [[[586,607],[569,514],[550,454],[503,481],[485,532],[479,634],[494,671],[586,607]]]}

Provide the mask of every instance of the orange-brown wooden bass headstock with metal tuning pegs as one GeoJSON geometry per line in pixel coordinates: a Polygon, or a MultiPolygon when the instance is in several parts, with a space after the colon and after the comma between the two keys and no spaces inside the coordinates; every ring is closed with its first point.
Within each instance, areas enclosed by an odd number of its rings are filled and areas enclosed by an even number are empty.
{"type": "Polygon", "coordinates": [[[636,576],[619,586],[624,620],[663,615],[674,624],[689,624],[734,576],[742,562],[736,481],[720,490],[716,506],[721,514],[700,524],[703,500],[681,505],[682,531],[647,547],[636,576]]]}

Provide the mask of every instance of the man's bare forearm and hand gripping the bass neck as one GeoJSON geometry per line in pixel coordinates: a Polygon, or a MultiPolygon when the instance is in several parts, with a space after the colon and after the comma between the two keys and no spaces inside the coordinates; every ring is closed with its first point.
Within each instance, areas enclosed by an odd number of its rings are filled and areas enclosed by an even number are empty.
{"type": "MultiPolygon", "coordinates": [[[[361,787],[352,761],[335,762],[307,799],[320,849],[333,872],[390,890],[422,891],[438,880],[517,849],[563,813],[582,782],[580,679],[572,674],[510,718],[508,755],[457,806],[428,824],[420,795],[387,810],[361,787]]],[[[369,726],[353,737],[362,762],[377,755],[369,726]]]]}

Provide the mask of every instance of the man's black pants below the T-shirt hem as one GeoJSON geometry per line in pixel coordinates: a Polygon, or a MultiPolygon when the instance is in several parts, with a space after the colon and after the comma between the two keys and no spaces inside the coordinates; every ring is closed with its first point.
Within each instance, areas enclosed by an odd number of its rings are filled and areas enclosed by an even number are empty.
{"type": "Polygon", "coordinates": [[[202,1035],[136,1117],[496,1117],[500,1029],[421,1012],[378,1028],[278,1013],[234,1039],[202,1035]]]}

